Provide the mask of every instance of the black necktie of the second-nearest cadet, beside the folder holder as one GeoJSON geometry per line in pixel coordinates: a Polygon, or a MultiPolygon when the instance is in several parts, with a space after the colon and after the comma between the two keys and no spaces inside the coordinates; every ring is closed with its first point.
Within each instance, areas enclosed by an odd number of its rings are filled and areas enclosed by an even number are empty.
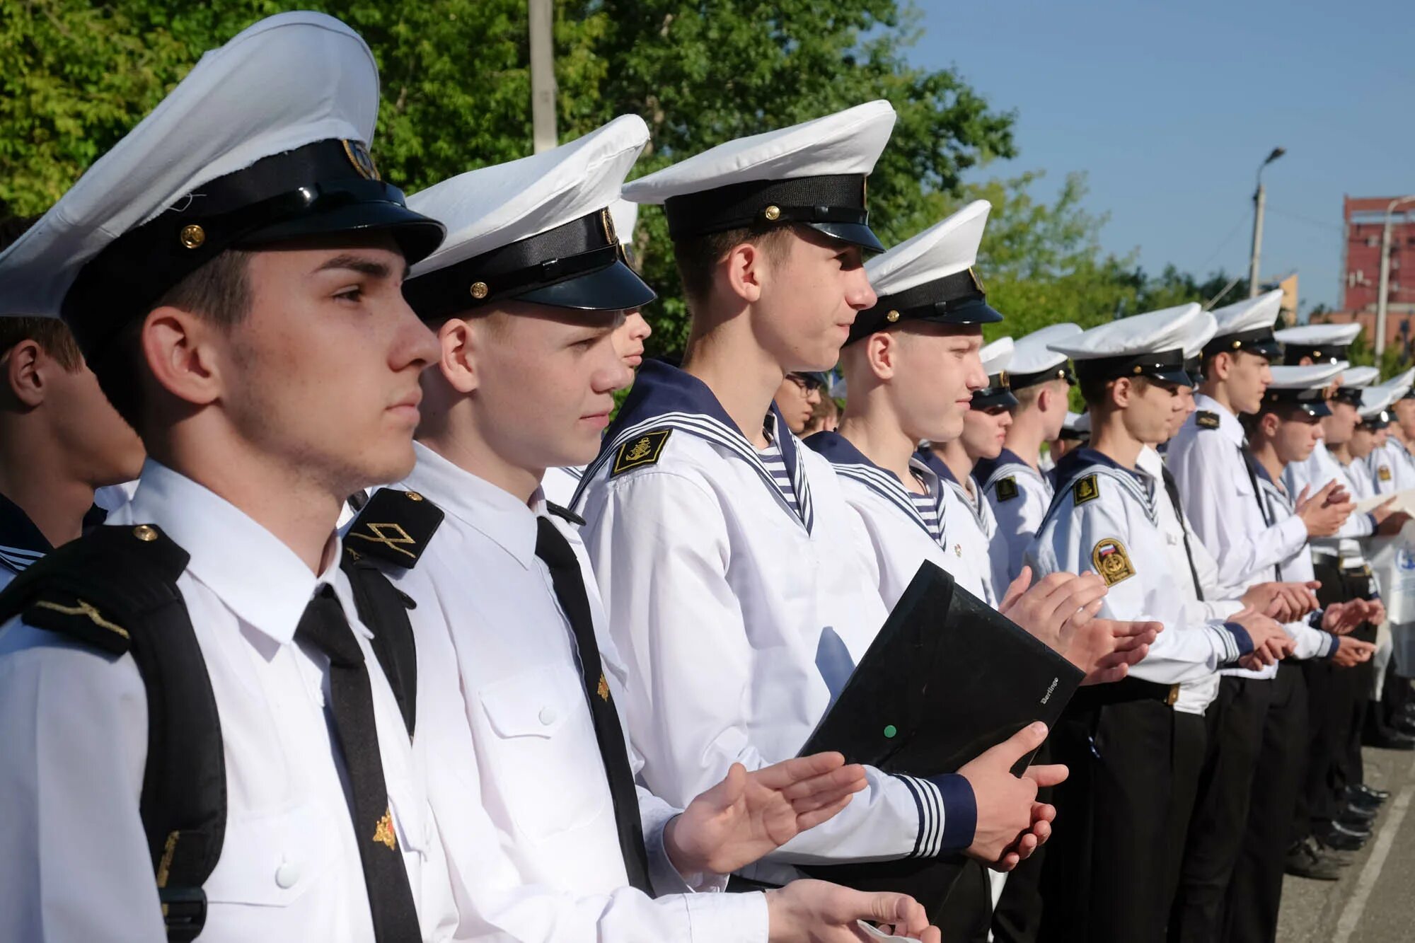
{"type": "Polygon", "coordinates": [[[600,664],[600,647],[594,641],[594,620],[590,616],[590,599],[584,595],[584,579],[580,576],[580,562],[570,549],[570,542],[549,518],[536,518],[535,555],[550,569],[555,596],[560,600],[565,617],[570,620],[574,644],[580,651],[580,675],[584,694],[590,702],[590,719],[594,722],[594,739],[600,745],[604,760],[604,776],[610,783],[610,799],[614,800],[614,825],[618,830],[620,851],[624,854],[624,871],[628,882],[652,896],[648,882],[648,851],[644,848],[644,824],[638,817],[638,793],[634,790],[634,770],[628,765],[628,749],[624,746],[624,729],[610,697],[604,668],[600,664]]]}

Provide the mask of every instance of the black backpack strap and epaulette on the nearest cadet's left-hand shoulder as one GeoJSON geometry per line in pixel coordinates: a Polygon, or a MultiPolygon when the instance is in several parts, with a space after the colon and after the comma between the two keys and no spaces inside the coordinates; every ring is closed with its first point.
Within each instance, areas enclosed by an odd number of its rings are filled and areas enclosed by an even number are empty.
{"type": "Polygon", "coordinates": [[[0,620],[113,657],[130,654],[147,692],[139,813],[170,940],[205,923],[202,885],[226,831],[226,767],[211,675],[177,578],[187,552],[150,524],[98,527],[30,566],[0,593],[0,620]]]}

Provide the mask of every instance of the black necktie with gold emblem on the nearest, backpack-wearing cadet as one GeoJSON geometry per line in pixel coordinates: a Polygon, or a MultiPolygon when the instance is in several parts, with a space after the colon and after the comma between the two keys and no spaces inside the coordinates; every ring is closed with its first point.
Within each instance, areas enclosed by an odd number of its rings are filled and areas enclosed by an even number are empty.
{"type": "MultiPolygon", "coordinates": [[[[374,690],[369,687],[364,650],[354,639],[344,609],[325,585],[304,607],[294,637],[330,657],[330,712],[354,791],[354,838],[364,862],[364,884],[378,943],[422,939],[413,891],[403,855],[398,851],[393,813],[383,783],[374,725],[374,690]]],[[[399,725],[402,729],[402,725],[399,725]]]]}

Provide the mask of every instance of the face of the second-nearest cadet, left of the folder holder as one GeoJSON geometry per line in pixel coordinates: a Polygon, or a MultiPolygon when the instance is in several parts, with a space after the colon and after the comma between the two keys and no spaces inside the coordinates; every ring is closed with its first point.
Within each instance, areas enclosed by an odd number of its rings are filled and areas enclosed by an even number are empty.
{"type": "Polygon", "coordinates": [[[614,391],[634,382],[616,345],[623,323],[623,312],[511,302],[443,326],[444,364],[457,326],[470,328],[471,387],[460,392],[470,394],[475,432],[499,463],[541,473],[594,459],[614,391]]]}

